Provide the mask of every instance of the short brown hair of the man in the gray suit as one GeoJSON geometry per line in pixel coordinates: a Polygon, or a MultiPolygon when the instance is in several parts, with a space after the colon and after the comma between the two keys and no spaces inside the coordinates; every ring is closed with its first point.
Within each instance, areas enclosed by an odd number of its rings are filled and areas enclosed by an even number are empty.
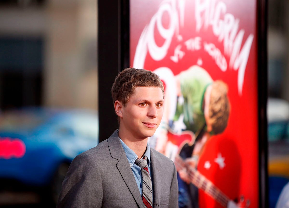
{"type": "Polygon", "coordinates": [[[112,85],[113,102],[118,100],[125,106],[135,87],[159,87],[164,96],[164,85],[158,75],[144,69],[126,68],[118,74],[112,85]]]}

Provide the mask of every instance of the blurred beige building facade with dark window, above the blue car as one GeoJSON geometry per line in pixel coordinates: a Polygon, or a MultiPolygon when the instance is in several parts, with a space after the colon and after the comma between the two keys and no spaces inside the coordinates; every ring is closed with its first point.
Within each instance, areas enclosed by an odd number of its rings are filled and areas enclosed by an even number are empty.
{"type": "Polygon", "coordinates": [[[97,1],[0,3],[0,107],[97,109],[97,1]]]}

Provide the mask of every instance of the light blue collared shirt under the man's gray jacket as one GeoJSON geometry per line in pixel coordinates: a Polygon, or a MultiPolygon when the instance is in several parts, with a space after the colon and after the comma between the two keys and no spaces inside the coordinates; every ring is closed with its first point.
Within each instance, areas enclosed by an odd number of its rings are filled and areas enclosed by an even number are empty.
{"type": "MultiPolygon", "coordinates": [[[[121,138],[119,138],[121,140],[121,138]]],[[[140,190],[140,195],[142,196],[142,177],[141,177],[141,170],[140,167],[137,166],[134,162],[138,158],[136,153],[132,151],[122,140],[121,144],[123,146],[123,149],[125,151],[125,154],[127,156],[127,160],[129,162],[129,165],[131,167],[132,173],[134,174],[134,178],[136,179],[136,184],[138,185],[138,189],[140,190]]],[[[147,165],[149,166],[149,174],[151,176],[151,183],[153,184],[153,177],[151,175],[151,148],[149,147],[149,144],[147,144],[147,149],[144,153],[144,156],[147,156],[147,165]]]]}

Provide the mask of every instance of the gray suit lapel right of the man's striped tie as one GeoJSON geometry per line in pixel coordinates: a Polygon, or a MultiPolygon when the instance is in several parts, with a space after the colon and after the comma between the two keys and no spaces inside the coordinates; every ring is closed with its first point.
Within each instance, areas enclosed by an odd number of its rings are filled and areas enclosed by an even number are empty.
{"type": "Polygon", "coordinates": [[[159,159],[155,156],[153,149],[151,149],[151,168],[153,171],[153,208],[160,207],[160,193],[161,193],[161,178],[160,178],[159,159]]]}

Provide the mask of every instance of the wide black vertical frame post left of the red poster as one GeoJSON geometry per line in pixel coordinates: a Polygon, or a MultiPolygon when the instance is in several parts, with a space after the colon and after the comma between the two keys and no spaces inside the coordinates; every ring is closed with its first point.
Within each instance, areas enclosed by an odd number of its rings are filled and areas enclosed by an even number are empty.
{"type": "Polygon", "coordinates": [[[99,141],[118,128],[111,87],[129,66],[129,1],[98,1],[99,141]]]}

